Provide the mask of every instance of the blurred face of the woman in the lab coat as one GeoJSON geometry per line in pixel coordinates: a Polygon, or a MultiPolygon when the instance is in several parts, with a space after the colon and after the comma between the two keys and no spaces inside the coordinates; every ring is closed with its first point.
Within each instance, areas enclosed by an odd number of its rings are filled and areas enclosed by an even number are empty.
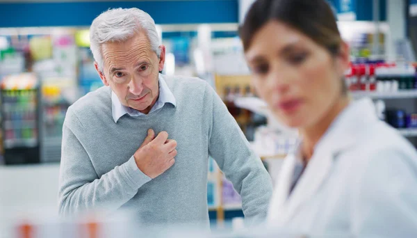
{"type": "Polygon", "coordinates": [[[288,127],[316,125],[341,98],[349,54],[340,56],[300,31],[271,21],[252,38],[245,52],[256,92],[288,127]]]}

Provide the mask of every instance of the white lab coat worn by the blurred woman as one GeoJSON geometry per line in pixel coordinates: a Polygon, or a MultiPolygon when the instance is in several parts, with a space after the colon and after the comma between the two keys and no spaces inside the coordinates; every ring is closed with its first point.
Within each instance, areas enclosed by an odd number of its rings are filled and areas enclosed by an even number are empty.
{"type": "Polygon", "coordinates": [[[296,150],[276,181],[270,228],[319,237],[417,237],[417,152],[379,121],[371,100],[352,102],[336,118],[288,196],[296,150]]]}

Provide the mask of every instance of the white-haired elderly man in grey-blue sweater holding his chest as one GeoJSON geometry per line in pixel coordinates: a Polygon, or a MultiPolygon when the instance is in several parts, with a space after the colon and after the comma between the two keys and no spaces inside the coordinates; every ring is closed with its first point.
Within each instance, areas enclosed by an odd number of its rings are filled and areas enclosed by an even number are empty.
{"type": "Polygon", "coordinates": [[[133,211],[145,223],[208,224],[211,155],[262,221],[270,176],[220,97],[195,78],[159,74],[165,47],[137,8],[102,13],[90,27],[104,87],[70,106],[63,126],[60,214],[133,211]]]}

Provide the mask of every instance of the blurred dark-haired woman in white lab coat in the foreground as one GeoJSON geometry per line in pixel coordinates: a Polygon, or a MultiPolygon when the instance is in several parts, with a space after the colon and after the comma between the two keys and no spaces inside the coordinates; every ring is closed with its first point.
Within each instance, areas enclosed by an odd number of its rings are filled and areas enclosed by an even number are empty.
{"type": "Polygon", "coordinates": [[[268,223],[311,235],[417,237],[417,153],[352,102],[349,47],[325,0],[258,0],[240,27],[253,84],[276,118],[298,129],[268,223]]]}

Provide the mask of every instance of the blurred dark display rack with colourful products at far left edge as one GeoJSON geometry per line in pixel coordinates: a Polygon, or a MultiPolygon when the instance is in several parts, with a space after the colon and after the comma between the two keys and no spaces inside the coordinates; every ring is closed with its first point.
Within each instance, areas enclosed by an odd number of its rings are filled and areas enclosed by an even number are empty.
{"type": "Polygon", "coordinates": [[[1,81],[4,164],[40,161],[39,85],[33,73],[10,74],[1,81]]]}

